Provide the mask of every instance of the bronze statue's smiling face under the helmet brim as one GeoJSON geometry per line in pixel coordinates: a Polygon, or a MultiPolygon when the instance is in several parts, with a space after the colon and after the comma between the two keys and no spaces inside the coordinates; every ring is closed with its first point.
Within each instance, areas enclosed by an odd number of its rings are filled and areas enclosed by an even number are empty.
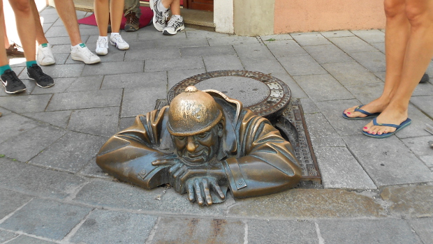
{"type": "Polygon", "coordinates": [[[217,154],[219,138],[223,134],[223,125],[217,123],[203,133],[185,137],[173,136],[173,142],[177,149],[177,155],[187,165],[203,165],[210,162],[217,154]]]}

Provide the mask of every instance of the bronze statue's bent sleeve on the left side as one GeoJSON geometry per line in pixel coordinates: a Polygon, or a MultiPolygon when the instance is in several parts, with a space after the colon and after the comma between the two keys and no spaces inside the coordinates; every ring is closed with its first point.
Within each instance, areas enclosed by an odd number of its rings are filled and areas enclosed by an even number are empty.
{"type": "Polygon", "coordinates": [[[168,183],[168,168],[152,162],[167,157],[156,150],[161,143],[163,117],[168,107],[135,117],[134,124],[108,139],[96,155],[96,164],[108,174],[142,188],[168,183]]]}

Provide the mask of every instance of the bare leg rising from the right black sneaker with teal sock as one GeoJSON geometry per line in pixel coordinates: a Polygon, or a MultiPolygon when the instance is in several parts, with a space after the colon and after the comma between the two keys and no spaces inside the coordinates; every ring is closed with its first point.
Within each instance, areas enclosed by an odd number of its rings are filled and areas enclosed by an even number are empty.
{"type": "Polygon", "coordinates": [[[24,49],[24,56],[27,61],[36,60],[36,31],[33,13],[29,0],[10,0],[10,6],[15,13],[18,36],[24,49]]]}

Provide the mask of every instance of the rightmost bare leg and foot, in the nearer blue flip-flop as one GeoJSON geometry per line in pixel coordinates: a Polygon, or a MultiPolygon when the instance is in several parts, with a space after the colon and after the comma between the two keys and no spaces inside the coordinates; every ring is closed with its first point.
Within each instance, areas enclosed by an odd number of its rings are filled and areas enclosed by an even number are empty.
{"type": "MultiPolygon", "coordinates": [[[[409,100],[433,56],[433,3],[430,0],[406,0],[406,17],[411,31],[395,94],[388,107],[377,117],[378,123],[399,125],[407,119],[409,100]]],[[[368,123],[363,129],[373,135],[394,132],[395,128],[368,123]]]]}

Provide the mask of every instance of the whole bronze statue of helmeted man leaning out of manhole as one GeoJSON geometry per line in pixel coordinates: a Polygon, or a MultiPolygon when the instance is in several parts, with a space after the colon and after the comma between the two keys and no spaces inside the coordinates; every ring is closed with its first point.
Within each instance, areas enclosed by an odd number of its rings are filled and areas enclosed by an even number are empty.
{"type": "Polygon", "coordinates": [[[170,106],[139,115],[99,151],[96,163],[145,189],[170,183],[211,205],[293,188],[301,178],[293,148],[267,119],[238,100],[189,86],[170,106]]]}

